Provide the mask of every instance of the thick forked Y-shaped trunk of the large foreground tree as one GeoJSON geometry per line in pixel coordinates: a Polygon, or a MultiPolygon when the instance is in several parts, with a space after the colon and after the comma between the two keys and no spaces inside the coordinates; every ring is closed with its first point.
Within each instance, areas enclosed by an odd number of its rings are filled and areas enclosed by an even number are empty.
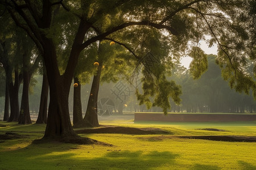
{"type": "MultiPolygon", "coordinates": [[[[51,3],[46,3],[45,7],[50,7],[51,3]]],[[[43,28],[49,28],[51,23],[51,15],[49,11],[44,13],[43,28]]],[[[71,54],[68,59],[65,73],[60,75],[57,63],[56,46],[52,39],[42,35],[41,42],[43,46],[43,58],[47,70],[47,78],[49,82],[49,108],[46,131],[43,139],[54,139],[65,142],[76,143],[93,143],[91,139],[81,138],[72,129],[71,120],[68,109],[68,95],[71,82],[75,73],[75,67],[78,62],[79,54],[83,48],[81,44],[90,25],[82,22],[79,25],[75,40],[72,45],[71,54]]]]}

